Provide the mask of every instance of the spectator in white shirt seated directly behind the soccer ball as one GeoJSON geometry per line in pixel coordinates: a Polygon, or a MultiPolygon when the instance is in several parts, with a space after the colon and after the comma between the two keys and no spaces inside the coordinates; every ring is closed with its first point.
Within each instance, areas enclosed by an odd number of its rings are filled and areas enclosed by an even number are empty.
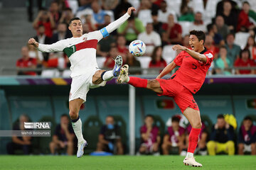
{"type": "Polygon", "coordinates": [[[138,39],[142,40],[146,45],[145,55],[151,55],[154,47],[161,45],[161,37],[154,31],[153,24],[146,24],[146,31],[138,35],[138,39]]]}

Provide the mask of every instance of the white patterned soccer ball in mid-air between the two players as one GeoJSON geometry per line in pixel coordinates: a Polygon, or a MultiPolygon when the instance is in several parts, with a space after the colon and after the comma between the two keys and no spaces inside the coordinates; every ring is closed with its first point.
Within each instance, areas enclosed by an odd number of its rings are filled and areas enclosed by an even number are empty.
{"type": "Polygon", "coordinates": [[[129,52],[134,57],[139,57],[144,55],[146,51],[146,45],[141,40],[134,40],[129,45],[129,52]]]}

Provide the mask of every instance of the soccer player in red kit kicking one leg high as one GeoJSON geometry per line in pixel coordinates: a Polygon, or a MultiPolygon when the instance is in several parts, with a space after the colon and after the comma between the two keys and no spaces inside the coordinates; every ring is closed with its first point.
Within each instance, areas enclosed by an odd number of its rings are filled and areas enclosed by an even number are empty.
{"type": "Polygon", "coordinates": [[[121,69],[118,81],[120,83],[126,82],[135,87],[150,89],[159,96],[174,98],[181,112],[192,126],[188,138],[188,152],[183,163],[189,166],[202,166],[193,157],[202,127],[200,111],[193,94],[196,94],[206,79],[206,73],[211,62],[213,62],[213,52],[206,50],[203,45],[206,38],[203,31],[192,30],[189,34],[191,49],[181,45],[174,45],[173,50],[181,50],[181,53],[164,68],[156,79],[148,80],[128,77],[129,66],[126,64],[121,69]],[[177,66],[180,66],[180,68],[170,79],[161,79],[177,66]]]}

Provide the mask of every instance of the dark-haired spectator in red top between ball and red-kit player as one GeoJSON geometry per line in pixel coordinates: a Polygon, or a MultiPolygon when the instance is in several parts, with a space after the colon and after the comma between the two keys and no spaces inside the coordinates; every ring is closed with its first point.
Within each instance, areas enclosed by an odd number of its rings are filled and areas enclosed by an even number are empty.
{"type": "Polygon", "coordinates": [[[166,61],[162,57],[162,52],[163,49],[161,46],[154,47],[151,55],[151,61],[149,62],[149,68],[164,68],[167,66],[166,61]]]}

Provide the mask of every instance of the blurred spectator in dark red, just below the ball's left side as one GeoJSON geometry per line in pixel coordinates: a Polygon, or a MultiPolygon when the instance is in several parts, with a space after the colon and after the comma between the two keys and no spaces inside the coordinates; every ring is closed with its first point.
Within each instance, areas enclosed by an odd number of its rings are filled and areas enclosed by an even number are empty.
{"type": "Polygon", "coordinates": [[[129,52],[125,64],[129,65],[129,74],[142,74],[140,62],[129,52]]]}

